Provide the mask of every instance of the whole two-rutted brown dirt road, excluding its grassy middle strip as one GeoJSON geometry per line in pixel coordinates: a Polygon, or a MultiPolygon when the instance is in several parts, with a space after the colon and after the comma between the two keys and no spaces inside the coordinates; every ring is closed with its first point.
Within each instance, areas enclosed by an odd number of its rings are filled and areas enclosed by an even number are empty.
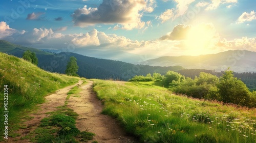
{"type": "MultiPolygon", "coordinates": [[[[51,94],[46,97],[46,102],[38,105],[38,110],[31,113],[29,116],[33,119],[24,122],[27,125],[25,129],[19,129],[17,131],[20,136],[9,137],[7,142],[27,143],[29,139],[20,139],[28,135],[31,131],[35,130],[40,121],[49,116],[47,112],[56,111],[58,106],[65,104],[67,93],[75,86],[82,89],[79,94],[72,95],[68,100],[68,107],[74,109],[79,114],[76,121],[76,127],[80,131],[93,132],[96,135],[93,140],[98,142],[137,142],[131,136],[127,136],[119,123],[107,115],[102,115],[101,111],[103,105],[101,101],[97,99],[97,95],[94,93],[93,81],[87,80],[87,84],[82,84],[82,80],[69,87],[56,91],[55,94],[51,94]]],[[[90,141],[89,141],[90,142],[90,141]]]]}

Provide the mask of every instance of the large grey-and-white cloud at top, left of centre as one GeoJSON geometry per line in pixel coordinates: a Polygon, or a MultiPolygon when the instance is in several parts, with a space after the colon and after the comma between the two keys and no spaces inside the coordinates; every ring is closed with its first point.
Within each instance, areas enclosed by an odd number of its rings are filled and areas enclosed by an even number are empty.
{"type": "Polygon", "coordinates": [[[155,0],[103,0],[98,8],[84,6],[75,10],[72,17],[76,26],[118,23],[122,25],[122,29],[132,30],[143,28],[143,12],[152,12],[155,7],[155,0]]]}

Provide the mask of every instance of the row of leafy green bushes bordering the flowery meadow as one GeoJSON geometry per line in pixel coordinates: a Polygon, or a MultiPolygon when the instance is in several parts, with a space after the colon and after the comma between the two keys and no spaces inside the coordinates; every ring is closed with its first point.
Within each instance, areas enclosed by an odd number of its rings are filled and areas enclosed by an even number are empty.
{"type": "Polygon", "coordinates": [[[233,71],[229,69],[220,77],[201,72],[192,79],[178,72],[168,71],[165,75],[154,73],[153,76],[134,76],[129,81],[161,81],[165,87],[177,94],[256,107],[256,92],[250,92],[246,84],[234,77],[233,71]]]}

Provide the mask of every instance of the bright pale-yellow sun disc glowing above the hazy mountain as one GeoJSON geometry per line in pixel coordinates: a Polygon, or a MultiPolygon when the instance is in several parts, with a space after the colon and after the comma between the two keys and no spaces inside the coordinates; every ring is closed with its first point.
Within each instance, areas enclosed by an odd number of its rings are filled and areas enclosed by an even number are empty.
{"type": "Polygon", "coordinates": [[[191,55],[207,53],[215,42],[216,31],[211,24],[199,24],[192,26],[186,33],[184,46],[191,55]]]}

